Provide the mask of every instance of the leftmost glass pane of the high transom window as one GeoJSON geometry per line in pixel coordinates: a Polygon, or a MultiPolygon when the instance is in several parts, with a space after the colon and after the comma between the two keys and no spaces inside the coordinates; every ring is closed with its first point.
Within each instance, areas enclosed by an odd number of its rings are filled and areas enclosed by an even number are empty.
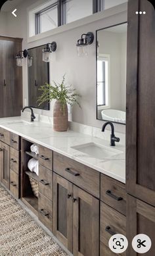
{"type": "Polygon", "coordinates": [[[40,34],[58,26],[57,3],[35,14],[35,34],[40,34]]]}

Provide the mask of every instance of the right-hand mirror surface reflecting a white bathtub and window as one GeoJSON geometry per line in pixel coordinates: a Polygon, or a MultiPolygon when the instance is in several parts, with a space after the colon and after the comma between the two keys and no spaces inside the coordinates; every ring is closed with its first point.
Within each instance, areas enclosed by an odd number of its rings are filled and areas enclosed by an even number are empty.
{"type": "Polygon", "coordinates": [[[97,119],[125,124],[127,23],[97,31],[97,119]]]}

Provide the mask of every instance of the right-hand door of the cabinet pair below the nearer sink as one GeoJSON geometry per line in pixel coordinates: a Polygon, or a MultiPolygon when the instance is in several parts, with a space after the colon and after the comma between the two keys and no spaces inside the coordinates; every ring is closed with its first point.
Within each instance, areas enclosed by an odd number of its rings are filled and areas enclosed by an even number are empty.
{"type": "Polygon", "coordinates": [[[99,255],[99,200],[74,186],[74,256],[99,255]]]}

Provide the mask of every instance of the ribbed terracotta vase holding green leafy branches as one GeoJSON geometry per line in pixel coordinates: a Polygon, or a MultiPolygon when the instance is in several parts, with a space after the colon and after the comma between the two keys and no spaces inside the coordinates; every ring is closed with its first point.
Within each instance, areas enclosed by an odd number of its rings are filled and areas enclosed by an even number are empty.
{"type": "Polygon", "coordinates": [[[68,107],[56,101],[53,110],[53,128],[56,132],[65,132],[68,130],[68,107]]]}

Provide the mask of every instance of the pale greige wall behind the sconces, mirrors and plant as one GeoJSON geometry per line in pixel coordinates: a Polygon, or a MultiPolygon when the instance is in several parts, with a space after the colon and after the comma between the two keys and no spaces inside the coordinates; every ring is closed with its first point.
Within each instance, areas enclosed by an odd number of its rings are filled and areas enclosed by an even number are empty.
{"type": "MultiPolygon", "coordinates": [[[[102,126],[102,121],[96,119],[96,49],[95,41],[89,46],[89,56],[85,58],[78,58],[76,55],[76,42],[81,34],[85,32],[93,32],[96,30],[113,24],[119,24],[127,20],[127,13],[113,15],[102,20],[89,23],[84,26],[68,30],[60,34],[49,36],[49,38],[39,39],[31,43],[27,43],[27,17],[26,7],[35,3],[35,0],[27,0],[18,7],[18,18],[9,15],[9,27],[7,36],[24,38],[23,49],[28,49],[38,45],[43,45],[47,42],[56,41],[57,50],[55,53],[55,60],[50,65],[51,80],[60,81],[62,75],[66,72],[68,82],[78,90],[82,95],[80,99],[81,109],[78,106],[73,108],[73,120],[82,124],[91,126],[102,126]]],[[[53,53],[54,54],[54,53],[53,53]]],[[[28,68],[25,61],[23,66],[23,99],[26,99],[28,104],[28,68]]],[[[51,111],[35,110],[35,113],[53,116],[53,108],[51,104],[51,111]]],[[[125,131],[125,126],[117,125],[116,130],[125,131]]]]}

